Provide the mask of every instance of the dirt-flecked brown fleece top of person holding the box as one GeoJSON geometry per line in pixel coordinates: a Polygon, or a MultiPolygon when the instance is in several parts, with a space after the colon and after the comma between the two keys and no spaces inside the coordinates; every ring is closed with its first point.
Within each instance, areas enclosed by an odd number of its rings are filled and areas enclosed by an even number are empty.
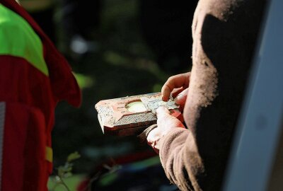
{"type": "Polygon", "coordinates": [[[200,0],[192,23],[190,130],[161,139],[167,177],[181,190],[220,190],[265,0],[200,0]]]}

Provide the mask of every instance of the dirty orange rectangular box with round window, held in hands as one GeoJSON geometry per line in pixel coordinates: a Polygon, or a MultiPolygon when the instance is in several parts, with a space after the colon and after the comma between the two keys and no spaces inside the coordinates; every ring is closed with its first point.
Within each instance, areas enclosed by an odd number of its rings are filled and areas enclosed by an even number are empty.
{"type": "Polygon", "coordinates": [[[179,105],[175,104],[173,98],[164,102],[161,100],[161,93],[100,100],[96,103],[96,110],[104,134],[129,136],[140,134],[147,127],[156,124],[156,110],[160,106],[183,121],[179,105]]]}

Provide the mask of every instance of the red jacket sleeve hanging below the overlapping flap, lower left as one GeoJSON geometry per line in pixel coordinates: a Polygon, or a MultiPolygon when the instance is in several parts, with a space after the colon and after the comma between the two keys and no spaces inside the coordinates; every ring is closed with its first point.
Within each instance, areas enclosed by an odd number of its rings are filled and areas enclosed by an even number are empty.
{"type": "Polygon", "coordinates": [[[45,117],[40,109],[6,103],[2,190],[47,190],[45,117]]]}

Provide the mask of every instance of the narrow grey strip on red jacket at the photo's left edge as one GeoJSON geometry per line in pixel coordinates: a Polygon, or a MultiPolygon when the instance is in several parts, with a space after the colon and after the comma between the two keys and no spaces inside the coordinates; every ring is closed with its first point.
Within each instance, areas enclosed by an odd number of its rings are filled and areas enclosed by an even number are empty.
{"type": "Polygon", "coordinates": [[[0,102],[0,190],[2,183],[2,159],[3,159],[3,143],[4,143],[4,125],[5,125],[6,103],[0,102]]]}

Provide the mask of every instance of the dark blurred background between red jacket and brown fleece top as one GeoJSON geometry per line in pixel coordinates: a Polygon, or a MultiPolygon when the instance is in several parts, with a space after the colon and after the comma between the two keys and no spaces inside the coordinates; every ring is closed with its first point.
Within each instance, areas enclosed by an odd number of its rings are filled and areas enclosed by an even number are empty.
{"type": "Polygon", "coordinates": [[[117,182],[120,190],[131,190],[121,187],[130,183],[135,183],[132,190],[174,190],[147,144],[137,137],[103,134],[94,105],[99,100],[161,91],[169,76],[190,71],[197,1],[22,0],[21,4],[67,58],[83,93],[81,108],[67,103],[57,106],[52,132],[54,175],[67,156],[78,151],[81,158],[74,162],[73,179],[66,180],[70,190],[77,183],[83,187],[85,178],[100,181],[100,186],[84,185],[96,190],[113,190],[110,185],[117,182]],[[117,165],[124,179],[101,178],[110,170],[117,173],[117,165]],[[144,171],[139,174],[137,169],[144,171]],[[144,181],[136,183],[137,179],[144,181]],[[147,187],[138,189],[139,184],[147,187]]]}

